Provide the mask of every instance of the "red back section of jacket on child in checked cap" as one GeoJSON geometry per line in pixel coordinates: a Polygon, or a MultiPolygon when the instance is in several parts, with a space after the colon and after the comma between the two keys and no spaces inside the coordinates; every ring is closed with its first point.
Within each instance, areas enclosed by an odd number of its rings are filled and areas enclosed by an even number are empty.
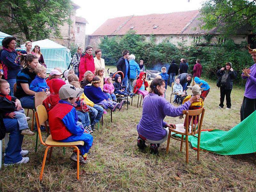
{"type": "Polygon", "coordinates": [[[51,127],[53,140],[63,140],[73,135],[62,122],[63,117],[72,109],[72,105],[57,103],[57,105],[51,110],[49,115],[49,125],[51,127]]]}

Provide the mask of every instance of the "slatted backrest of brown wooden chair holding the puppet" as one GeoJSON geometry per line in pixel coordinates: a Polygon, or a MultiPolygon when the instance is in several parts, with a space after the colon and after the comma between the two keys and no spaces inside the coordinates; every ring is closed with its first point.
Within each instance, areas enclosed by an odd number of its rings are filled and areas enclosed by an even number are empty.
{"type": "Polygon", "coordinates": [[[185,124],[186,124],[186,132],[188,131],[189,125],[191,125],[191,134],[197,134],[201,131],[202,123],[204,119],[204,107],[196,110],[183,110],[182,113],[186,115],[185,117],[185,124]],[[191,118],[190,124],[189,117],[191,118]],[[193,126],[195,127],[193,129],[193,126]],[[196,129],[197,128],[197,129],[196,129]]]}

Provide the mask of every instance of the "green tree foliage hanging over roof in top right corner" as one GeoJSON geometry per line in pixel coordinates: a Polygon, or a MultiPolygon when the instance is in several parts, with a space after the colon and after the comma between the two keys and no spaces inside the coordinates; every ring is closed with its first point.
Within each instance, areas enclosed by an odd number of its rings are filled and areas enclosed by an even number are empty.
{"type": "Polygon", "coordinates": [[[236,29],[251,24],[256,32],[256,0],[205,0],[201,12],[204,29],[218,29],[234,35],[236,29]]]}

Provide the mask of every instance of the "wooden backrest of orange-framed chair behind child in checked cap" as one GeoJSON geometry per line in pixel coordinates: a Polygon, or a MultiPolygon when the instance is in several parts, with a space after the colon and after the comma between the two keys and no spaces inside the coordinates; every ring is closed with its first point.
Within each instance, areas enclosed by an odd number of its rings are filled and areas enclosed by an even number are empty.
{"type": "Polygon", "coordinates": [[[40,127],[41,127],[41,124],[44,123],[44,126],[47,128],[46,120],[48,119],[48,116],[47,116],[46,109],[43,105],[39,105],[36,107],[35,116],[36,116],[36,125],[37,125],[39,139],[40,139],[41,143],[43,145],[45,145],[45,143],[42,139],[40,127]]]}

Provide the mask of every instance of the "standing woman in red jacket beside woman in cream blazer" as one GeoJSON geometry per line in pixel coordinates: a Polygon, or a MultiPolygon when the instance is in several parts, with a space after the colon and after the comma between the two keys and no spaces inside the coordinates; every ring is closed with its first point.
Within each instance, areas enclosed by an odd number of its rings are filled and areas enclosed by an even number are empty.
{"type": "Polygon", "coordinates": [[[84,79],[84,73],[86,71],[95,72],[94,59],[92,56],[92,47],[87,46],[85,48],[85,55],[82,55],[80,63],[79,63],[79,81],[84,79]]]}

